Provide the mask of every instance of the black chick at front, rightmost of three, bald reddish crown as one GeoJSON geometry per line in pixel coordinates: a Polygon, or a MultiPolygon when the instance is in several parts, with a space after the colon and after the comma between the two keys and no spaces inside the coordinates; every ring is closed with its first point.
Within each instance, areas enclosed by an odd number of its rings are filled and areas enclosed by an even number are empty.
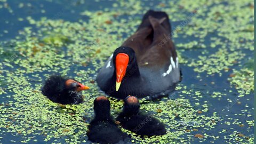
{"type": "Polygon", "coordinates": [[[158,119],[151,115],[140,112],[140,103],[136,97],[129,96],[124,100],[124,108],[116,121],[124,129],[130,130],[138,135],[164,135],[166,134],[165,126],[158,119]]]}

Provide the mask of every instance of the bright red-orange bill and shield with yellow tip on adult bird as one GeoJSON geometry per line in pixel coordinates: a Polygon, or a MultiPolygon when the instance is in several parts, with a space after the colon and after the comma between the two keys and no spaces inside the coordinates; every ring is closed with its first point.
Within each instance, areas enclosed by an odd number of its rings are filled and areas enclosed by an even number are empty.
{"type": "Polygon", "coordinates": [[[125,53],[116,55],[116,91],[119,90],[122,79],[125,76],[126,68],[129,62],[129,56],[125,53]]]}

